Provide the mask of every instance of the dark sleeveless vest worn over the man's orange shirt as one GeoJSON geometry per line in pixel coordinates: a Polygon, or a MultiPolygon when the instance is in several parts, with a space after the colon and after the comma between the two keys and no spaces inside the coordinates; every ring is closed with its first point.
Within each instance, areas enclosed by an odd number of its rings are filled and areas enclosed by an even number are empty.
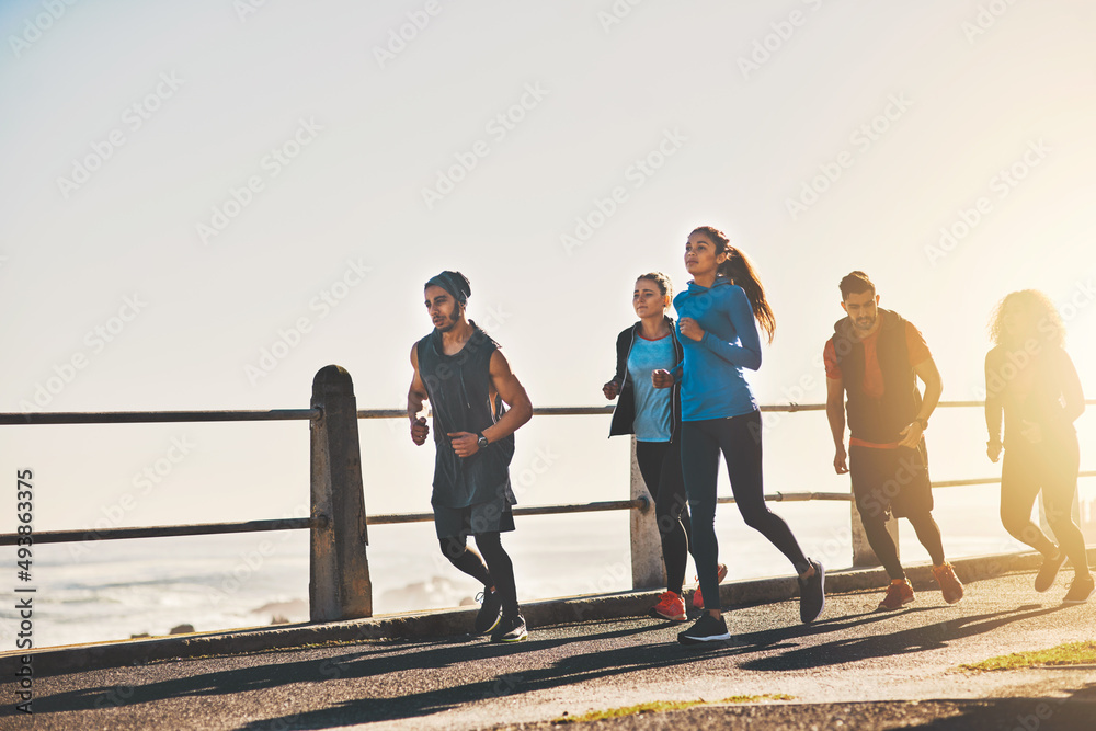
{"type": "Polygon", "coordinates": [[[865,442],[890,444],[902,438],[899,432],[921,410],[921,390],[917,388],[917,375],[910,365],[906,321],[897,312],[878,311],[881,322],[876,338],[876,354],[883,374],[882,398],[875,399],[864,392],[864,344],[854,334],[848,318],[834,324],[833,347],[848,395],[845,411],[849,433],[865,442]]]}

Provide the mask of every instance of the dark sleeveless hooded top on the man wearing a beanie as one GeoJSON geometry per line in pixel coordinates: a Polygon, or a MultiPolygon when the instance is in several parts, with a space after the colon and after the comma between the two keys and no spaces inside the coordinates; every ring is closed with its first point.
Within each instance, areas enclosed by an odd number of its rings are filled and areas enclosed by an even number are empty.
{"type": "Polygon", "coordinates": [[[492,442],[471,457],[453,450],[449,432],[478,434],[506,412],[502,398],[491,399],[491,356],[499,344],[471,322],[472,335],[454,355],[446,355],[437,330],[415,344],[419,376],[433,414],[436,455],[431,503],[467,507],[477,503],[517,502],[510,486],[514,435],[492,442]]]}

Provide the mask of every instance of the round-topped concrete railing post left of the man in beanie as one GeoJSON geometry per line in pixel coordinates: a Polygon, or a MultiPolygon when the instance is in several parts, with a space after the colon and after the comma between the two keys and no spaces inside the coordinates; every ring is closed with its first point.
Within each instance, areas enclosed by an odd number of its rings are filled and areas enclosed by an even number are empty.
{"type": "Polygon", "coordinates": [[[373,584],[366,557],[365,493],[357,436],[354,384],[330,365],[312,379],[310,424],[312,519],[308,607],[312,621],[373,616],[373,584]]]}

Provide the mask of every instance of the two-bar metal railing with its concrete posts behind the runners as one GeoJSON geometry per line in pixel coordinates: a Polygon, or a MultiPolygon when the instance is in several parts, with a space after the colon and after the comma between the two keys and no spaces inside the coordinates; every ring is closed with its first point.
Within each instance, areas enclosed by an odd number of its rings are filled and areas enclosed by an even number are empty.
{"type": "MultiPolygon", "coordinates": [[[[1085,403],[1096,403],[1088,400],[1085,403]]],[[[981,401],[941,401],[944,408],[982,407],[981,401]]],[[[766,404],[762,411],[823,411],[824,403],[766,404]]],[[[536,415],[606,415],[613,407],[541,407],[536,415]]],[[[311,404],[308,409],[273,409],[266,411],[121,411],[121,412],[54,412],[0,413],[0,425],[35,424],[145,424],[180,422],[246,422],[308,421],[310,434],[309,517],[246,521],[238,523],[203,523],[130,528],[95,528],[87,530],[34,530],[35,544],[61,544],[126,538],[198,536],[265,530],[310,530],[309,616],[312,621],[334,621],[373,615],[373,586],[366,556],[367,525],[425,523],[433,513],[392,513],[367,516],[362,479],[361,446],[357,422],[362,419],[407,419],[401,409],[358,410],[350,374],[339,366],[327,366],[312,380],[311,404]]],[[[1082,477],[1096,477],[1096,471],[1083,471],[1082,477]]],[[[934,488],[992,484],[1000,478],[974,478],[937,481],[934,488]]],[[[661,540],[650,517],[653,505],[636,461],[635,437],[631,449],[631,488],[629,500],[598,501],[582,504],[536,505],[514,509],[515,516],[559,515],[602,511],[629,511],[631,535],[632,585],[653,587],[664,582],[661,540]]],[[[846,501],[847,492],[775,492],[766,501],[846,501]]],[[[717,502],[733,503],[730,496],[717,502]]],[[[850,510],[853,564],[878,566],[859,525],[855,505],[850,510]]],[[[893,525],[893,523],[892,523],[893,525]]],[[[0,546],[13,546],[19,534],[0,534],[0,546]]]]}

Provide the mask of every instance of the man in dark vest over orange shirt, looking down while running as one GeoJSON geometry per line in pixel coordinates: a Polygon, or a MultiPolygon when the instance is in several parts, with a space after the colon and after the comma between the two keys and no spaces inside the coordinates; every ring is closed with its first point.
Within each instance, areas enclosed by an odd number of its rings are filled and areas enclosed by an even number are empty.
{"type": "Polygon", "coordinates": [[[913,323],[878,307],[879,295],[867,274],[853,272],[843,278],[841,298],[848,317],[834,324],[823,351],[825,411],[836,449],[833,467],[838,475],[852,472],[853,495],[868,545],[891,579],[879,608],[898,609],[914,598],[898,548],[887,532],[890,515],[905,517],[913,525],[933,559],[933,574],[944,599],[955,604],[962,598],[963,589],[944,558],[940,529],[933,519],[924,437],[928,418],[940,400],[940,373],[913,323]],[[924,397],[917,378],[925,382],[924,397]]]}

